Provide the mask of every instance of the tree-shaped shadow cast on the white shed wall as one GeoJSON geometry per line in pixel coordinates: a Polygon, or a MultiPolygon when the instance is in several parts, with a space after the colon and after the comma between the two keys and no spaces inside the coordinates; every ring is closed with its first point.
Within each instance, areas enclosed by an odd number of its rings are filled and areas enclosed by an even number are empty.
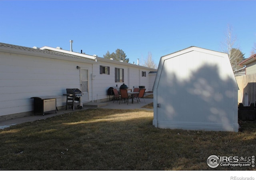
{"type": "Polygon", "coordinates": [[[158,87],[157,91],[157,101],[162,104],[158,108],[157,119],[161,121],[158,123],[171,122],[177,128],[185,126],[185,129],[233,131],[234,122],[238,122],[234,79],[222,79],[218,66],[209,64],[190,73],[184,80],[174,73],[168,76],[166,82],[163,79],[159,82],[159,87],[166,83],[167,88],[158,87]]]}

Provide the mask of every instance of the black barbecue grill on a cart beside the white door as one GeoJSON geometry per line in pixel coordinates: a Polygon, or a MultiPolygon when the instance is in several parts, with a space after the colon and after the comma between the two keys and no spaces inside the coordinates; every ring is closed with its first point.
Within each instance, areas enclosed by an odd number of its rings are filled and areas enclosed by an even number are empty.
{"type": "Polygon", "coordinates": [[[82,109],[82,91],[80,91],[78,88],[66,89],[66,91],[67,94],[63,94],[63,96],[67,96],[66,110],[68,109],[68,106],[71,106],[73,110],[75,109],[75,106],[77,106],[78,109],[82,109]]]}

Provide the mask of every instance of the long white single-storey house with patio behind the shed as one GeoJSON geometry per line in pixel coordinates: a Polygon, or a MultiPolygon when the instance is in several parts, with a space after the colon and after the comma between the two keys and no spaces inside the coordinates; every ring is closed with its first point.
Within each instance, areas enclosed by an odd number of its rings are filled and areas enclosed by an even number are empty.
{"type": "Polygon", "coordinates": [[[148,73],[156,69],[70,52],[61,48],[27,48],[0,43],[0,120],[33,114],[33,99],[60,96],[57,107],[66,105],[66,88],[84,92],[83,102],[109,100],[109,87],[151,86],[148,73]],[[106,72],[102,72],[106,67],[106,72]],[[124,70],[116,82],[115,69],[124,70]],[[109,72],[108,72],[109,71],[109,72]],[[142,71],[146,77],[142,77],[142,71]]]}

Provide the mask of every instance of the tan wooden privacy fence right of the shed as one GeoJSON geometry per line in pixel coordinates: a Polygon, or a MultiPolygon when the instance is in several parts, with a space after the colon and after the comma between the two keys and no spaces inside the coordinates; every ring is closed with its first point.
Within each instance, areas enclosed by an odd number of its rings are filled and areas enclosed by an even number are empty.
{"type": "Polygon", "coordinates": [[[246,76],[236,76],[238,84],[238,103],[249,106],[256,102],[256,74],[246,76]]]}

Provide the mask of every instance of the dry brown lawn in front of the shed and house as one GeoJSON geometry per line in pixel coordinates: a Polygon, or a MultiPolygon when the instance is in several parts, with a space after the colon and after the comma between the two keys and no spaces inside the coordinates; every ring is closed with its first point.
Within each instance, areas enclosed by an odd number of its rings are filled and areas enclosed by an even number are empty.
{"type": "Polygon", "coordinates": [[[143,109],[90,109],[11,126],[0,130],[0,169],[213,170],[210,155],[255,155],[256,123],[235,133],[159,129],[152,120],[143,109]]]}

